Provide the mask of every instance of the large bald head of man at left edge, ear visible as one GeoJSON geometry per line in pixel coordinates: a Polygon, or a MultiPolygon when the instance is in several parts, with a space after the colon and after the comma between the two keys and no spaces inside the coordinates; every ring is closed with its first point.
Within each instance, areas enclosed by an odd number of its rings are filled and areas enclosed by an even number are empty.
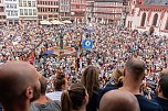
{"type": "Polygon", "coordinates": [[[30,102],[39,98],[39,73],[25,62],[0,65],[0,103],[4,111],[29,111],[30,102]]]}

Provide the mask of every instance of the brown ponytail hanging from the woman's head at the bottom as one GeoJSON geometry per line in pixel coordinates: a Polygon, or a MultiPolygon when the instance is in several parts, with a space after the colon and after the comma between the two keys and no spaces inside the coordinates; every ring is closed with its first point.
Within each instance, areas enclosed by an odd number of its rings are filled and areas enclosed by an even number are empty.
{"type": "Polygon", "coordinates": [[[61,111],[72,111],[72,101],[69,91],[64,91],[61,97],[61,111]]]}

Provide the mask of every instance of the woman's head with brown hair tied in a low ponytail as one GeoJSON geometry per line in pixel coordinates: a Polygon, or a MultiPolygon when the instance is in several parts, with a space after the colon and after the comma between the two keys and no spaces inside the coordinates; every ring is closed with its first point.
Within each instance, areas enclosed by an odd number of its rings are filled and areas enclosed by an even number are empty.
{"type": "Polygon", "coordinates": [[[61,111],[78,111],[88,103],[88,93],[82,84],[74,84],[61,97],[61,111]]]}

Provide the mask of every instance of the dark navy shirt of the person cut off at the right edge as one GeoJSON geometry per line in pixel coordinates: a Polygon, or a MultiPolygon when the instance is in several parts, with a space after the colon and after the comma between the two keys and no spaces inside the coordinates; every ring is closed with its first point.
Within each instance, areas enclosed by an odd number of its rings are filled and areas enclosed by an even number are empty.
{"type": "Polygon", "coordinates": [[[159,97],[155,97],[153,98],[153,101],[159,103],[162,111],[168,111],[168,100],[159,98],[159,97]]]}

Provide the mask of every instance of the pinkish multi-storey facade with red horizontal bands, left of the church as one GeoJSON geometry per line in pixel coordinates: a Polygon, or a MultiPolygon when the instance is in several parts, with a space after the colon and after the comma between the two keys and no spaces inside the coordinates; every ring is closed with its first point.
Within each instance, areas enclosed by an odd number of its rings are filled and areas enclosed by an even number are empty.
{"type": "Polygon", "coordinates": [[[96,22],[120,24],[123,21],[123,0],[95,0],[96,22]]]}

